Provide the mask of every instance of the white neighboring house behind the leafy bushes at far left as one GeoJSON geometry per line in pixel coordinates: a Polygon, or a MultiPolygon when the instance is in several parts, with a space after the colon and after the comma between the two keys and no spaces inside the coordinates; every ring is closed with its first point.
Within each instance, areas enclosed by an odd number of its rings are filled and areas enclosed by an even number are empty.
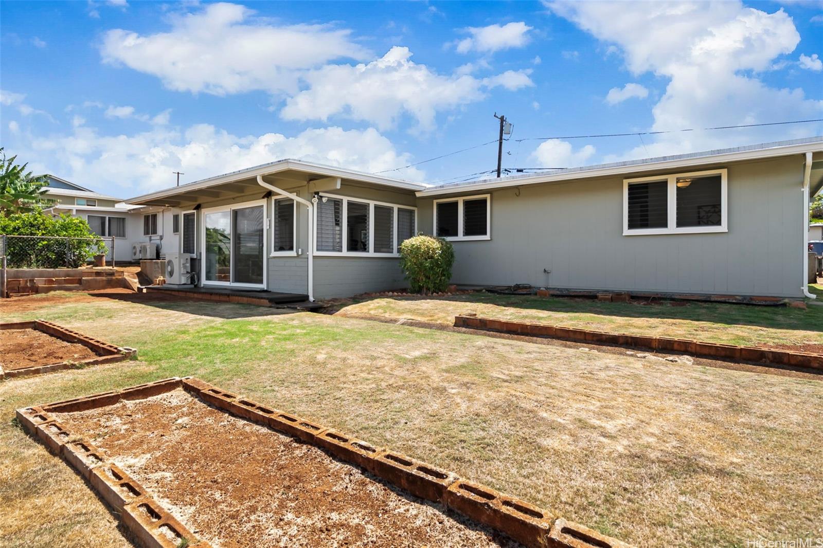
{"type": "MultiPolygon", "coordinates": [[[[128,205],[120,198],[95,193],[55,175],[44,176],[48,180],[44,196],[58,202],[46,212],[81,217],[95,234],[114,237],[116,262],[135,260],[134,247],[139,249],[140,244],[148,242],[157,244],[160,254],[178,250],[179,230],[174,229],[178,228],[179,217],[174,221],[170,209],[128,205]]],[[[111,257],[109,249],[109,260],[111,257]]]]}

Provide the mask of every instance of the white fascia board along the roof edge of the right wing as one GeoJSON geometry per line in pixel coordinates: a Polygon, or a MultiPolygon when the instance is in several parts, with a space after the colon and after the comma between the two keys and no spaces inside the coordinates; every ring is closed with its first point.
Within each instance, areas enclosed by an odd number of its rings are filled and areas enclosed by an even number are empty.
{"type": "Polygon", "coordinates": [[[823,151],[823,141],[801,143],[789,146],[775,146],[771,148],[754,149],[750,151],[734,151],[716,155],[694,156],[690,158],[677,158],[675,160],[660,160],[656,162],[607,165],[602,168],[592,170],[564,171],[558,174],[538,174],[532,177],[519,177],[512,179],[502,179],[499,181],[487,180],[480,183],[461,184],[453,187],[429,188],[416,193],[417,197],[441,196],[444,194],[457,194],[467,192],[477,192],[480,190],[495,190],[499,188],[520,187],[528,184],[555,183],[570,181],[575,179],[592,179],[594,177],[606,177],[609,175],[625,175],[643,173],[647,171],[659,170],[680,170],[681,168],[691,168],[698,165],[722,164],[726,162],[737,162],[744,160],[757,160],[760,158],[771,158],[777,156],[791,156],[793,154],[804,154],[806,152],[823,151]]]}

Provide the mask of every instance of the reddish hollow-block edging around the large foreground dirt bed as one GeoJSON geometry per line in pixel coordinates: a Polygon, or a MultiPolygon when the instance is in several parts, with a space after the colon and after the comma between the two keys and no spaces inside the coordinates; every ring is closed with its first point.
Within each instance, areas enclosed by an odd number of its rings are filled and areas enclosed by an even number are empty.
{"type": "Polygon", "coordinates": [[[86,439],[74,436],[49,414],[86,411],[114,405],[121,399],[156,396],[175,388],[184,388],[222,411],[323,448],[333,457],[361,467],[416,497],[443,504],[446,509],[502,532],[529,548],[630,546],[588,527],[552,516],[545,509],[524,500],[463,479],[454,472],[444,471],[390,449],[376,447],[312,420],[238,397],[198,378],[167,378],[119,391],[25,407],[18,409],[16,416],[26,430],[40,439],[52,453],[62,456],[77,469],[100,497],[122,514],[123,525],[135,533],[143,546],[176,546],[159,532],[160,527],[170,527],[178,539],[188,539],[189,546],[205,548],[209,546],[206,541],[195,543],[196,539],[191,532],[152,499],[137,481],[107,460],[99,448],[95,448],[86,439]]]}

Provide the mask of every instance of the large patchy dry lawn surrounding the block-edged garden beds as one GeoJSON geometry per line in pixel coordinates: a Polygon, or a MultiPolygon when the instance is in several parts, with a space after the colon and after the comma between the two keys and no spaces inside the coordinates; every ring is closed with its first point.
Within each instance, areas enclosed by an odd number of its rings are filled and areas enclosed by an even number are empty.
{"type": "Polygon", "coordinates": [[[209,304],[209,317],[200,304],[66,308],[75,305],[26,314],[137,346],[142,361],[0,384],[4,546],[124,543],[91,490],[9,424],[12,410],[173,374],[197,374],[639,546],[823,536],[818,380],[353,318],[260,316],[235,304],[209,304]],[[95,323],[99,312],[105,322],[95,323]]]}

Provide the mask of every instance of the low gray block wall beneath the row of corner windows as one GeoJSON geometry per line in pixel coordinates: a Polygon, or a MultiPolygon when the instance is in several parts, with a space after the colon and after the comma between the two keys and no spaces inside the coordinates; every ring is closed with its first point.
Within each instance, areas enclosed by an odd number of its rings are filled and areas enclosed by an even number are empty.
{"type": "Polygon", "coordinates": [[[407,287],[398,258],[315,257],[314,297],[331,299],[407,287]]]}

